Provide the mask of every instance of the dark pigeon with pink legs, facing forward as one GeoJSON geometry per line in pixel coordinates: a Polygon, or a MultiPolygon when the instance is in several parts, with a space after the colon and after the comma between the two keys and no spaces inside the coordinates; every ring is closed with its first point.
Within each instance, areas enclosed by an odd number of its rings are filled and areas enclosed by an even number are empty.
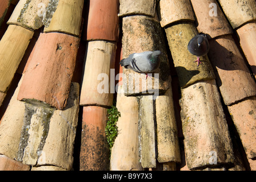
{"type": "Polygon", "coordinates": [[[194,36],[194,38],[189,41],[189,44],[187,44],[189,52],[197,56],[197,60],[194,61],[197,62],[197,66],[201,63],[199,56],[205,56],[209,52],[209,48],[208,39],[206,35],[202,33],[194,36]]]}

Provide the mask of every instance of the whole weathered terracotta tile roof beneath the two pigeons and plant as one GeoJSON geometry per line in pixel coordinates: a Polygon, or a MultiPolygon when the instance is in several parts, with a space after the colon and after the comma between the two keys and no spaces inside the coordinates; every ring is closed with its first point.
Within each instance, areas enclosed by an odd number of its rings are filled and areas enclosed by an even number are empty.
{"type": "Polygon", "coordinates": [[[1,1],[0,169],[256,170],[255,21],[254,0],[1,1]],[[157,49],[151,77],[119,67],[157,49]]]}

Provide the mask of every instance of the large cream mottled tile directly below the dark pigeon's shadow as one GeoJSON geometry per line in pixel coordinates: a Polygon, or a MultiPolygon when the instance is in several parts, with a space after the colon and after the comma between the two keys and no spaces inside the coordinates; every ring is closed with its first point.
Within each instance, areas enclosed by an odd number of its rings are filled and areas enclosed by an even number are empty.
{"type": "Polygon", "coordinates": [[[233,147],[215,80],[196,82],[181,92],[182,130],[189,169],[233,163],[233,147]]]}

